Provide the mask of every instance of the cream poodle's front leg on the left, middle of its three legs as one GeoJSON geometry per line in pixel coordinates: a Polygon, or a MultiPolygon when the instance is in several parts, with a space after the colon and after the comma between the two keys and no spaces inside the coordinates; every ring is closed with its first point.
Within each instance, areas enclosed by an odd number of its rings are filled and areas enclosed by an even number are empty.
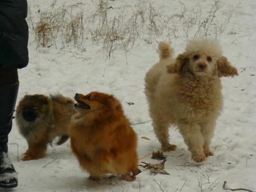
{"type": "Polygon", "coordinates": [[[178,128],[192,153],[192,159],[196,162],[204,161],[204,136],[201,133],[201,127],[196,123],[178,122],[178,128]]]}

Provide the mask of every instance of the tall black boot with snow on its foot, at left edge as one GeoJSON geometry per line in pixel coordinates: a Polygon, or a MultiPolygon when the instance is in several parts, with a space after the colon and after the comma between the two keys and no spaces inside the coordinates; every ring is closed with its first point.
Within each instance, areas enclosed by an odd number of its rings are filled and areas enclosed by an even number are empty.
{"type": "Polygon", "coordinates": [[[0,86],[0,187],[13,188],[18,185],[17,173],[8,156],[8,134],[12,128],[19,82],[0,86]]]}

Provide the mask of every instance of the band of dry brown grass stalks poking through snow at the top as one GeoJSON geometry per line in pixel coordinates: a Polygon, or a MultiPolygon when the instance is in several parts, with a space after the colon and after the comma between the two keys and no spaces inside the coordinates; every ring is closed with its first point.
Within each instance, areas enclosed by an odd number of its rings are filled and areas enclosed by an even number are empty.
{"type": "MultiPolygon", "coordinates": [[[[57,7],[52,3],[49,11],[39,12],[34,24],[29,9],[29,26],[35,32],[38,47],[61,49],[65,46],[83,47],[84,34],[93,44],[102,45],[105,58],[114,56],[116,49],[127,52],[138,39],[155,48],[156,38],[165,38],[170,43],[175,38],[211,36],[217,39],[227,29],[233,12],[238,6],[230,7],[224,14],[224,3],[213,0],[209,10],[202,11],[201,5],[186,7],[180,0],[177,12],[167,15],[157,10],[146,0],[135,6],[111,6],[109,0],[91,0],[95,9],[87,14],[70,7],[57,7]],[[205,14],[205,12],[208,12],[205,14]]],[[[80,5],[79,5],[80,6],[80,5]]]]}

